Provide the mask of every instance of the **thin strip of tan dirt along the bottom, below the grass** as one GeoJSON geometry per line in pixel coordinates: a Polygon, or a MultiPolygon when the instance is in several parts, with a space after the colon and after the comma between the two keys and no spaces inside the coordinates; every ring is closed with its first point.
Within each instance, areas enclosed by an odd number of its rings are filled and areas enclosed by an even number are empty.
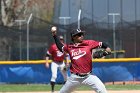
{"type": "MultiPolygon", "coordinates": [[[[0,93],[51,93],[51,92],[0,92],[0,93]]],[[[58,93],[58,92],[55,92],[58,93]]],[[[75,91],[73,93],[95,93],[92,91],[75,91]]],[[[108,93],[140,93],[140,90],[109,90],[108,93]]]]}

